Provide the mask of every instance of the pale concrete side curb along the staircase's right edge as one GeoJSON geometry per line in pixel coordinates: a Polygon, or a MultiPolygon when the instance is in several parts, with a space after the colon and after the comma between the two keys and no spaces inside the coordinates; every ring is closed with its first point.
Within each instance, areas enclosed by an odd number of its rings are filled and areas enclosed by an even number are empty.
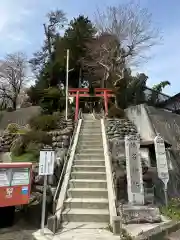
{"type": "Polygon", "coordinates": [[[110,224],[113,227],[113,232],[115,232],[116,229],[115,229],[114,220],[117,217],[116,194],[115,194],[114,181],[113,181],[112,161],[111,161],[111,156],[109,154],[109,144],[108,144],[107,135],[106,135],[104,118],[101,119],[101,129],[102,129],[102,139],[103,139],[106,176],[107,176],[110,224]]]}

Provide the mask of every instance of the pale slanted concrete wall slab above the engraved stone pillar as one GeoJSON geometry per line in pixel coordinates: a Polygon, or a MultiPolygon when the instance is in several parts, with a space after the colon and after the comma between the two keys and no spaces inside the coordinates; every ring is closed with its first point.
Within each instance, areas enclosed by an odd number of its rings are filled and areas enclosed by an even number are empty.
{"type": "Polygon", "coordinates": [[[148,117],[144,104],[132,106],[125,110],[127,117],[137,127],[141,138],[145,141],[153,141],[156,134],[148,117]]]}

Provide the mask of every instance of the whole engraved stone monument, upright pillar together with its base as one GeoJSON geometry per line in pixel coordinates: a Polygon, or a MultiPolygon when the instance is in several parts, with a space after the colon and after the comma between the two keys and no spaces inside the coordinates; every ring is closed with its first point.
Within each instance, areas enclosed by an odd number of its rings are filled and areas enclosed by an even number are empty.
{"type": "Polygon", "coordinates": [[[125,152],[128,204],[123,206],[123,223],[161,222],[159,209],[154,206],[145,206],[144,203],[139,135],[125,137],[125,152]]]}

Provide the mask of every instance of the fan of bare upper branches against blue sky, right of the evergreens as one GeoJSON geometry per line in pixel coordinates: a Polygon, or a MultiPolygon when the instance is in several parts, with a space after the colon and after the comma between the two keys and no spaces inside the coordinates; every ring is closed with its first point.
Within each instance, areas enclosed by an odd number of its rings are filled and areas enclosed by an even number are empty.
{"type": "Polygon", "coordinates": [[[108,7],[102,13],[97,11],[96,26],[100,34],[106,32],[117,37],[130,62],[144,58],[145,52],[160,40],[151,14],[133,2],[108,7]]]}

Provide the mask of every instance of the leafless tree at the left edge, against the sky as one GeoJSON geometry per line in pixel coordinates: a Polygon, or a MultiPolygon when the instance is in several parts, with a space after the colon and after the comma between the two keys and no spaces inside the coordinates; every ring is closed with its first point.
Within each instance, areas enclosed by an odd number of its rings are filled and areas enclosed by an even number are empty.
{"type": "Polygon", "coordinates": [[[16,110],[18,96],[25,86],[27,59],[23,53],[8,54],[0,63],[0,98],[16,110]]]}

